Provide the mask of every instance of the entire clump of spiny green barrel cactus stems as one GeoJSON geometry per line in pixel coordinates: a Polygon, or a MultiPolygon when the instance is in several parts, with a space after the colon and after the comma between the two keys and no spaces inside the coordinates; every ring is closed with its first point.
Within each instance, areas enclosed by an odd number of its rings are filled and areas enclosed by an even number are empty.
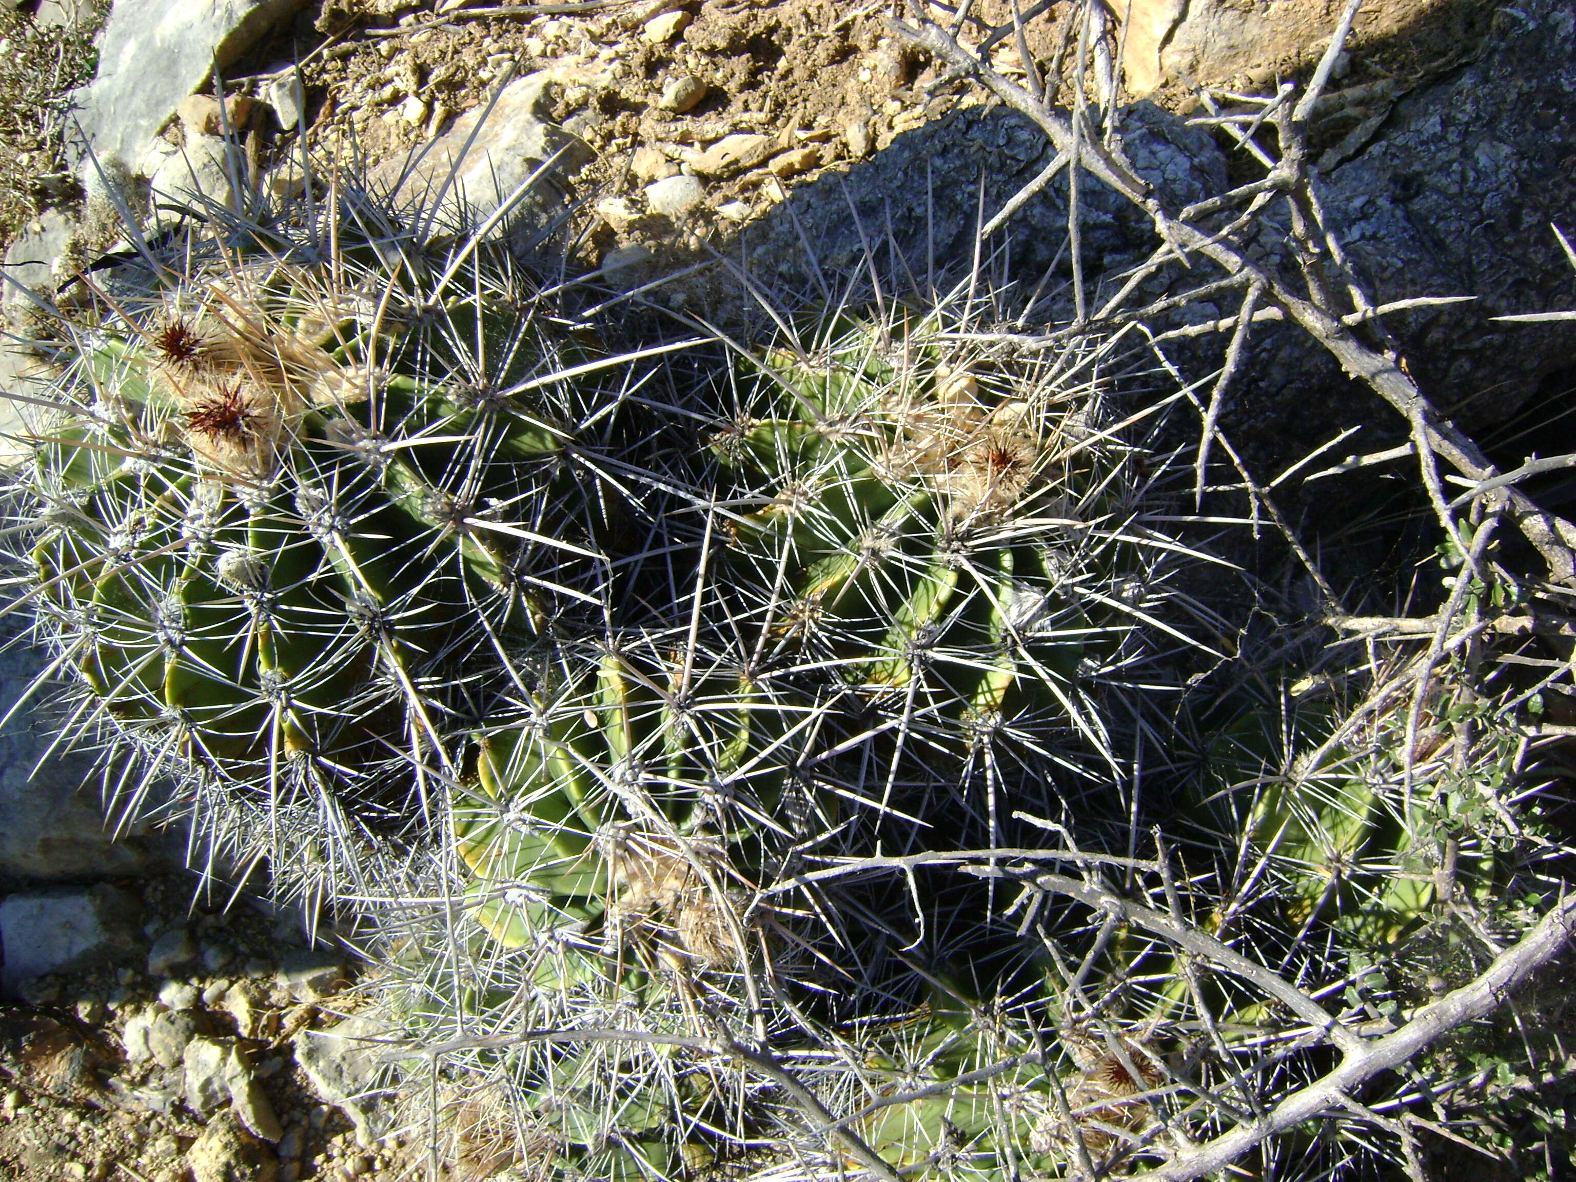
{"type": "MultiPolygon", "coordinates": [[[[969,287],[621,353],[430,210],[210,213],[58,309],[25,599],[129,810],[173,774],[274,889],[397,905],[364,917],[378,999],[448,1048],[407,1070],[455,1152],[747,1158],[802,1113],[717,1031],[897,1171],[1143,1152],[1182,1070],[1155,1046],[1202,1005],[1173,952],[917,860],[838,878],[1046,829],[1141,865],[1135,744],[1180,749],[1185,682],[1228,657],[1174,586],[1206,563],[1166,528],[1182,399],[1143,396],[1124,334],[1031,350],[969,287]],[[1080,958],[1121,1037],[1053,987],[1080,958]]],[[[1195,714],[1166,791],[1234,897],[1275,884],[1266,947],[1371,963],[1415,930],[1442,831],[1399,698],[1195,714]]]]}

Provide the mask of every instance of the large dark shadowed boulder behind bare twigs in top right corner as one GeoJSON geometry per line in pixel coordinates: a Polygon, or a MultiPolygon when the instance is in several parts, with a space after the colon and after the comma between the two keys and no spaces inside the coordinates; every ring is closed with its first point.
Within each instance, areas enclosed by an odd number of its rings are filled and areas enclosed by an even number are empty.
{"type": "Polygon", "coordinates": [[[1324,180],[1327,214],[1377,303],[1477,296],[1388,322],[1422,388],[1474,430],[1576,366],[1570,323],[1489,320],[1576,307],[1576,271],[1549,229],[1576,230],[1576,9],[1518,8],[1477,61],[1401,98],[1324,180]]]}

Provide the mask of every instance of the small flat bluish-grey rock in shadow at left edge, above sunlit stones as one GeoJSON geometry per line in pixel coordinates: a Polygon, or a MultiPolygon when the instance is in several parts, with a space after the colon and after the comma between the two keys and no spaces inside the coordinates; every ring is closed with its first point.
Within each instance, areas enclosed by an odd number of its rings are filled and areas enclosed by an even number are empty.
{"type": "Polygon", "coordinates": [[[102,883],[6,895],[0,903],[6,993],[46,972],[71,972],[126,955],[136,947],[136,924],[137,901],[102,883]]]}

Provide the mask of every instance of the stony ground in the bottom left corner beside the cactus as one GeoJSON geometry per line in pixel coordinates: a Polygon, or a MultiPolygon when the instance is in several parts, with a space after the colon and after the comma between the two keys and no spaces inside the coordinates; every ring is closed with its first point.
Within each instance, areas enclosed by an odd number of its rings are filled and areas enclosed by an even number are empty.
{"type": "Polygon", "coordinates": [[[296,916],[224,900],[194,903],[172,873],[0,905],[0,1177],[411,1173],[380,1124],[374,1051],[329,1034],[366,1034],[350,958],[309,947],[296,916]],[[24,957],[58,968],[22,976],[24,957]]]}

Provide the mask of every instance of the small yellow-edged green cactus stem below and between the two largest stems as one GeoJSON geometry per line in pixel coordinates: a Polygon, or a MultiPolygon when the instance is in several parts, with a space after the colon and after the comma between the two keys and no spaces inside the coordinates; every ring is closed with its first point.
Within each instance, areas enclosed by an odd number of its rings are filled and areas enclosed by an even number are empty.
{"type": "Polygon", "coordinates": [[[714,894],[749,834],[719,827],[714,793],[749,782],[756,815],[774,810],[782,768],[760,752],[777,708],[742,675],[649,649],[558,663],[575,673],[544,671],[523,719],[476,736],[476,782],[452,810],[478,922],[506,949],[569,925],[615,957],[623,935],[656,927],[668,961],[733,966],[738,933],[714,894]]]}

